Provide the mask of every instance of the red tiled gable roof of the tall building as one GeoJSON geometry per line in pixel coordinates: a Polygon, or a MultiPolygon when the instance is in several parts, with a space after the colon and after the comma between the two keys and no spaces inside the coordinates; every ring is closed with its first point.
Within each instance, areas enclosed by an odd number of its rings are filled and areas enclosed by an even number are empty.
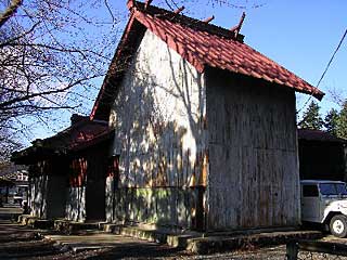
{"type": "MultiPolygon", "coordinates": [[[[130,53],[131,50],[132,52],[136,51],[133,41],[138,42],[139,39],[136,39],[133,35],[137,35],[138,38],[142,37],[143,31],[149,29],[201,73],[203,73],[207,66],[217,67],[247,77],[266,80],[278,87],[285,87],[298,92],[312,94],[319,100],[324,95],[323,92],[298,76],[243,43],[240,37],[235,37],[232,30],[156,6],[150,5],[145,8],[141,2],[129,2],[132,3],[128,4],[131,11],[131,17],[114,57],[114,66],[117,66],[117,62],[124,56],[123,52],[125,49],[128,48],[130,53]],[[141,26],[139,26],[139,24],[141,26]],[[136,31],[138,34],[134,34],[136,31]],[[133,35],[131,36],[131,34],[133,35]],[[128,46],[132,48],[129,49],[128,46]]],[[[127,52],[127,54],[130,53],[127,52]]],[[[113,73],[112,69],[108,74],[110,73],[113,73]]],[[[91,117],[98,114],[100,103],[107,103],[105,92],[107,91],[106,89],[110,88],[107,84],[110,84],[108,79],[112,77],[111,75],[108,75],[108,78],[106,77],[91,117]]],[[[115,81],[113,81],[113,83],[115,83],[115,81]]],[[[110,92],[107,96],[110,98],[110,92]]]]}

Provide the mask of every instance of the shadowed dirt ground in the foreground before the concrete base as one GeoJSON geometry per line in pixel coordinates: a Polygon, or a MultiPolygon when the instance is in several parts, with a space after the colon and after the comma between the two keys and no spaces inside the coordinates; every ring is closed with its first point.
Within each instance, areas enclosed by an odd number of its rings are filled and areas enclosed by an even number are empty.
{"type": "MultiPolygon", "coordinates": [[[[9,210],[8,210],[9,211],[9,210]]],[[[7,212],[8,212],[7,211],[7,212]]],[[[13,214],[1,214],[0,208],[0,259],[285,259],[285,246],[248,248],[245,250],[215,253],[209,256],[192,255],[165,245],[147,243],[136,238],[117,237],[112,247],[74,252],[54,240],[38,235],[38,232],[14,222],[13,214]],[[11,220],[12,219],[12,220],[11,220]]],[[[327,236],[324,240],[347,244],[347,239],[327,236]]],[[[336,259],[333,256],[300,255],[300,259],[336,259]]],[[[337,258],[347,259],[347,258],[337,258]]]]}

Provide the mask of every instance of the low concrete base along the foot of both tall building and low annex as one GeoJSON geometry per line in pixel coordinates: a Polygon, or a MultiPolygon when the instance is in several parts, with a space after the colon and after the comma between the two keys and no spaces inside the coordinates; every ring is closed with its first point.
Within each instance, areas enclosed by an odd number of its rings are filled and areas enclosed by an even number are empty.
{"type": "MultiPolygon", "coordinates": [[[[85,235],[86,237],[103,237],[105,235],[112,239],[113,234],[136,237],[142,240],[167,244],[198,255],[274,246],[286,244],[292,239],[319,239],[323,237],[323,234],[319,231],[299,231],[297,229],[200,233],[150,225],[125,225],[124,223],[79,223],[67,220],[44,221],[31,216],[21,216],[18,222],[35,229],[48,229],[47,226],[52,226],[54,223],[55,231],[67,235],[78,235],[78,237],[83,237],[85,235]]],[[[92,248],[97,245],[88,244],[88,246],[92,248]]]]}

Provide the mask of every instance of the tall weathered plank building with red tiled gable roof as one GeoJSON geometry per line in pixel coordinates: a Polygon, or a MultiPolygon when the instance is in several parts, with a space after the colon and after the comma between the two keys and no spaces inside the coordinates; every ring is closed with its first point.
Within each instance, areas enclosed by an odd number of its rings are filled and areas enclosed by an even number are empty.
{"type": "Polygon", "coordinates": [[[323,93],[243,43],[241,24],[128,8],[91,114],[115,129],[108,218],[207,231],[299,224],[295,91],[323,93]]]}

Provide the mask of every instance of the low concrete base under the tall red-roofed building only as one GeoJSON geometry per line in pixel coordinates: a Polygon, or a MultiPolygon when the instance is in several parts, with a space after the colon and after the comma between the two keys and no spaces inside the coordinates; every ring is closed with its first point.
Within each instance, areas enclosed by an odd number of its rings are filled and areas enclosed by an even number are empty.
{"type": "Polygon", "coordinates": [[[297,229],[198,233],[172,231],[164,227],[153,230],[143,226],[104,224],[103,231],[167,244],[171,247],[187,249],[200,255],[281,245],[291,239],[319,239],[323,237],[323,234],[319,231],[298,231],[297,229]]]}

